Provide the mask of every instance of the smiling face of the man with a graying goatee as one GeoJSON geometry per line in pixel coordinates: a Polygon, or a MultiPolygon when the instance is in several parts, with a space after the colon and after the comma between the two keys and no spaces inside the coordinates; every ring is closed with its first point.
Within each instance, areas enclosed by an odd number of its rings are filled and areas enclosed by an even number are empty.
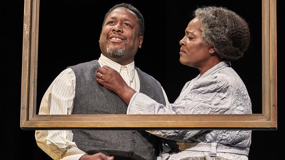
{"type": "Polygon", "coordinates": [[[100,35],[102,54],[112,57],[134,57],[142,45],[143,36],[139,35],[139,30],[135,13],[123,7],[114,9],[107,16],[100,35]]]}

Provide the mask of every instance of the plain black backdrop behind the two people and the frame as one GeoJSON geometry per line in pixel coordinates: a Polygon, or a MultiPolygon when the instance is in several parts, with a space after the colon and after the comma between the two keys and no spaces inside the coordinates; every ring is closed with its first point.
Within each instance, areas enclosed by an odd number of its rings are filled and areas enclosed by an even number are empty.
{"type": "MultiPolygon", "coordinates": [[[[179,41],[193,18],[192,12],[201,6],[223,6],[238,13],[248,22],[251,44],[245,56],[232,61],[232,68],[244,81],[252,101],[253,113],[261,113],[261,1],[106,1],[88,2],[61,1],[40,2],[39,59],[37,106],[54,78],[67,66],[98,59],[100,56],[99,36],[105,13],[115,4],[133,4],[145,18],[145,35],[142,49],[135,56],[135,66],[152,75],[164,87],[171,103],[180,94],[183,85],[195,78],[199,71],[180,64],[179,41]],[[190,16],[189,16],[190,15],[190,16]]],[[[30,159],[50,159],[34,139],[34,131],[20,129],[20,90],[22,69],[22,31],[24,2],[6,3],[4,15],[7,34],[2,52],[4,61],[5,108],[4,136],[8,144],[5,155],[12,159],[21,156],[30,159]],[[7,44],[6,44],[7,43],[7,44]],[[7,57],[4,57],[7,56],[7,57]],[[8,91],[8,92],[7,92],[8,91]]],[[[278,99],[281,97],[281,54],[284,31],[281,24],[283,10],[277,1],[277,52],[278,59],[278,99]],[[282,32],[282,33],[281,33],[282,32]]],[[[278,115],[283,112],[278,101],[278,115]]],[[[282,155],[284,143],[281,130],[283,124],[278,119],[277,131],[253,131],[249,159],[272,159],[282,155]]],[[[5,145],[4,145],[5,146],[5,145]]]]}

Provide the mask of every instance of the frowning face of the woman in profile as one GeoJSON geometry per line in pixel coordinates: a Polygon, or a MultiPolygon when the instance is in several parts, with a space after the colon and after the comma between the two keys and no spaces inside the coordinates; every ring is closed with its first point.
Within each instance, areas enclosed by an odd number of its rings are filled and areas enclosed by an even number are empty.
{"type": "Polygon", "coordinates": [[[185,36],[179,43],[180,63],[187,66],[201,68],[208,64],[214,49],[204,44],[200,31],[200,20],[196,17],[191,20],[185,30],[185,36]]]}

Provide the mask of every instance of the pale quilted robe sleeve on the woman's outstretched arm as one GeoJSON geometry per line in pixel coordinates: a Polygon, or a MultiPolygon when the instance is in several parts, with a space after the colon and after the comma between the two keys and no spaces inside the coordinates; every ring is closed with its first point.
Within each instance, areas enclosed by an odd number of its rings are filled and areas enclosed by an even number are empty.
{"type": "MultiPolygon", "coordinates": [[[[231,90],[228,80],[218,76],[198,79],[194,85],[186,83],[173,104],[157,103],[142,93],[131,98],[127,114],[230,114],[231,90]],[[182,95],[182,96],[181,96],[182,95]]],[[[187,141],[204,131],[148,131],[156,136],[176,141],[187,141]]]]}

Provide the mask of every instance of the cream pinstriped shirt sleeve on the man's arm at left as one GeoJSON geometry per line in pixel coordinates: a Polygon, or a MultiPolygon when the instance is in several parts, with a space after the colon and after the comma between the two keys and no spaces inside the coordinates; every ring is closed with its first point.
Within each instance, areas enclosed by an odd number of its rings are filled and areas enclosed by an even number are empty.
{"type": "MultiPolygon", "coordinates": [[[[75,75],[71,68],[62,71],[48,87],[41,101],[39,115],[70,115],[73,112],[75,75]]],[[[53,159],[78,160],[84,154],[72,142],[72,131],[36,131],[37,145],[53,159]]]]}

